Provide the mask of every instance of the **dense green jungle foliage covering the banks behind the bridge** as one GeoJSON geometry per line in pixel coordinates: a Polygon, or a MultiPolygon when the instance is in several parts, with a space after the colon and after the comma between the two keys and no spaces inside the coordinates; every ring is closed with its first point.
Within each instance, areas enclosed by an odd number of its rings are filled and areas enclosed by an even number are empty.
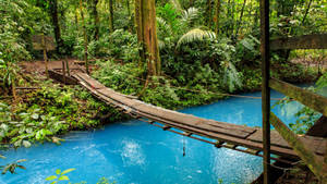
{"type": "MultiPolygon", "coordinates": [[[[22,68],[43,60],[43,51],[33,47],[35,35],[55,39],[56,50],[47,52],[50,61],[83,60],[106,86],[169,109],[259,89],[257,0],[148,2],[155,3],[140,10],[140,0],[1,0],[1,143],[60,143],[69,131],[123,118],[77,86],[62,86],[44,72],[22,68]],[[146,20],[144,14],[152,16],[146,20]]],[[[270,2],[271,38],[327,32],[326,0],[270,2]]],[[[313,90],[323,91],[325,60],[325,50],[274,51],[271,75],[291,83],[320,77],[313,90]]],[[[292,127],[305,133],[319,114],[302,109],[298,116],[292,127]]]]}

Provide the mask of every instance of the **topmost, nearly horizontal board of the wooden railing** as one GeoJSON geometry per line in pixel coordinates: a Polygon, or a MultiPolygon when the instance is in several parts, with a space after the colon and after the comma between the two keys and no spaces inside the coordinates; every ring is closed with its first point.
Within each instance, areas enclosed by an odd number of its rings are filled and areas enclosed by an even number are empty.
{"type": "Polygon", "coordinates": [[[327,49],[327,34],[275,39],[270,49],[327,49]]]}

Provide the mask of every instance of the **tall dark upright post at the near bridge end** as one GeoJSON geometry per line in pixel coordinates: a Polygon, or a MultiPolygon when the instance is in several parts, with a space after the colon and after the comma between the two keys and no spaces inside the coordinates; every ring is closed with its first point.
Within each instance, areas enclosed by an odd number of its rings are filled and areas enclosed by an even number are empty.
{"type": "Polygon", "coordinates": [[[269,0],[261,0],[262,102],[264,184],[270,183],[269,0]]]}

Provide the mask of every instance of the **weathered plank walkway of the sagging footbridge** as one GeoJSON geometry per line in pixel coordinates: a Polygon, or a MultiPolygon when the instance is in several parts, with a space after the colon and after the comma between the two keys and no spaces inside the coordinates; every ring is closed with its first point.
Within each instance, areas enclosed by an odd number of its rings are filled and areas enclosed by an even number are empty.
{"type": "MultiPolygon", "coordinates": [[[[88,89],[98,99],[133,116],[145,118],[153,122],[162,123],[165,124],[164,130],[174,127],[183,131],[185,135],[194,134],[216,139],[217,147],[223,146],[232,149],[243,147],[252,150],[249,151],[249,154],[253,152],[253,155],[258,155],[258,152],[263,150],[262,128],[206,120],[191,114],[167,110],[119,94],[107,88],[85,73],[76,73],[74,77],[78,81],[80,85],[88,89]]],[[[299,136],[299,138],[305,142],[318,157],[325,155],[326,139],[313,136],[299,136]]],[[[270,149],[271,154],[278,156],[298,158],[296,154],[276,131],[271,131],[270,149]]]]}

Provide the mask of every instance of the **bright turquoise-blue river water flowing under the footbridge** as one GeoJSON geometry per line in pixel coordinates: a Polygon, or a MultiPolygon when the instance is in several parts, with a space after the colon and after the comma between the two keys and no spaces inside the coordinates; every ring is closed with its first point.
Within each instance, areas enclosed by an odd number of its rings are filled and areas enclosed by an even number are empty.
{"type": "MultiPolygon", "coordinates": [[[[261,96],[259,93],[247,94],[261,96]]],[[[275,91],[272,97],[282,97],[275,91]]],[[[274,103],[274,101],[272,101],[274,103]]],[[[182,112],[234,124],[261,126],[261,100],[230,98],[213,105],[189,108],[182,112]]],[[[284,122],[292,122],[300,105],[292,102],[275,111],[284,122]]],[[[76,170],[71,182],[96,183],[105,176],[118,184],[210,184],[249,183],[261,172],[262,158],[220,148],[161,131],[140,121],[107,125],[95,132],[76,132],[64,137],[61,146],[37,145],[1,152],[8,157],[0,164],[25,158],[27,170],[0,176],[0,184],[38,184],[56,169],[76,170]],[[183,157],[183,143],[185,157],[183,157]]],[[[64,182],[63,182],[64,183],[64,182]]]]}

